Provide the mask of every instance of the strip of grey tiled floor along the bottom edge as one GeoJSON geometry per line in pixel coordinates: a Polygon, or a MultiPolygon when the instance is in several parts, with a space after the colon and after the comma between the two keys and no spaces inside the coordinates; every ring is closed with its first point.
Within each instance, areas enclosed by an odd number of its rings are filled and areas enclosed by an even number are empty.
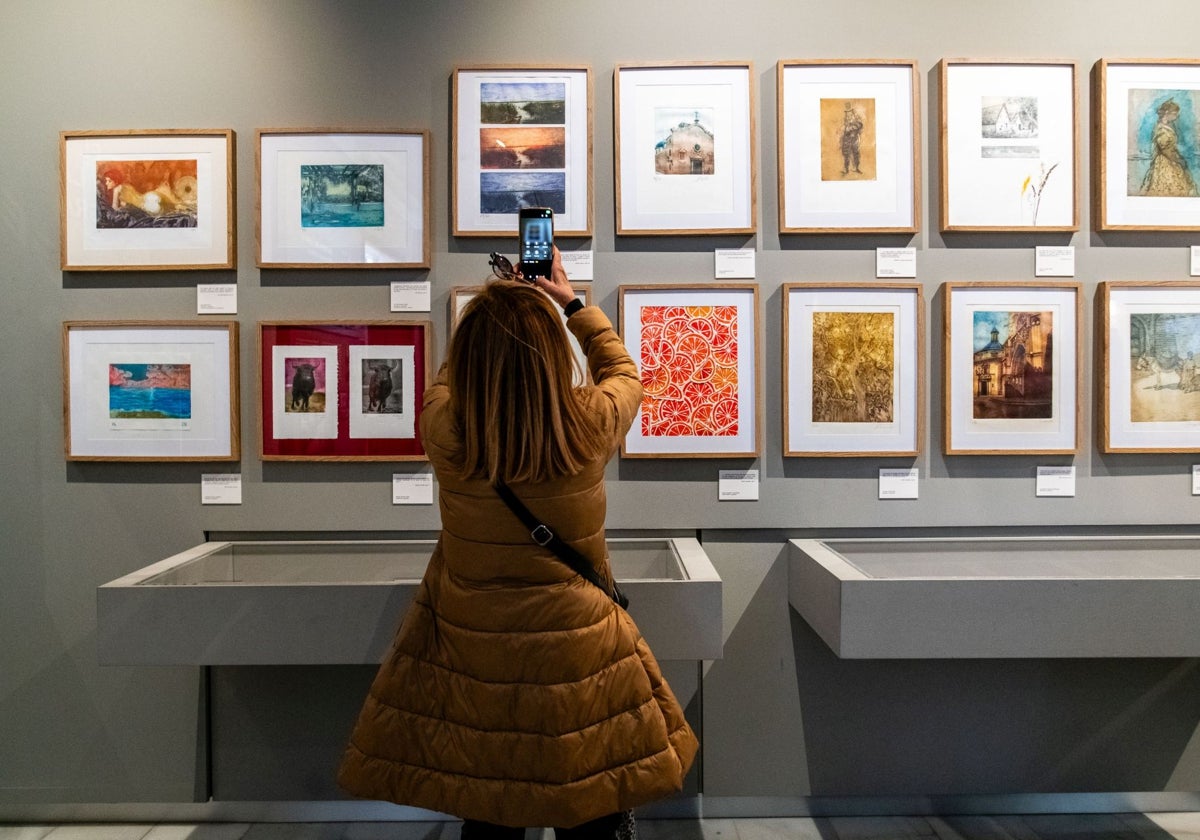
{"type": "MultiPolygon", "coordinates": [[[[642,820],[640,840],[1200,840],[1200,814],[642,820]]],[[[529,840],[552,840],[529,832],[529,840]]],[[[0,824],[0,840],[458,840],[454,822],[0,824]]]]}

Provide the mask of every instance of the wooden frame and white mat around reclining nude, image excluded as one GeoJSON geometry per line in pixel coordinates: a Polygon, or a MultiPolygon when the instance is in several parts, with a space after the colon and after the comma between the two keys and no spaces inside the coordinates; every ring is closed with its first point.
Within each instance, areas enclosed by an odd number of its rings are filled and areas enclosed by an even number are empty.
{"type": "Polygon", "coordinates": [[[236,264],[234,161],[234,132],[228,128],[61,132],[62,270],[233,269],[236,264]],[[96,227],[100,162],[179,158],[196,160],[196,227],[96,227]]]}

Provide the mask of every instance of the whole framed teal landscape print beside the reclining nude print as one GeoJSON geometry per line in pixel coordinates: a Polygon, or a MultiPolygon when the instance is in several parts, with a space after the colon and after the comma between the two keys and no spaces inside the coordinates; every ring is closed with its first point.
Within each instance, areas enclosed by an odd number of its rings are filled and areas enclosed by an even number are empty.
{"type": "Polygon", "coordinates": [[[262,128],[258,266],[427,269],[430,133],[262,128]]]}

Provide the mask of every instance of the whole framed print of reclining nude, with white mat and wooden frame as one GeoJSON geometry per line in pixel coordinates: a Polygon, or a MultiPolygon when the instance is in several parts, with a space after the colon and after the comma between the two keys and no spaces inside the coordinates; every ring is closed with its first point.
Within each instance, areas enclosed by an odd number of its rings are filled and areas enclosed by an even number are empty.
{"type": "Polygon", "coordinates": [[[234,268],[234,133],[59,134],[64,271],[234,268]]]}

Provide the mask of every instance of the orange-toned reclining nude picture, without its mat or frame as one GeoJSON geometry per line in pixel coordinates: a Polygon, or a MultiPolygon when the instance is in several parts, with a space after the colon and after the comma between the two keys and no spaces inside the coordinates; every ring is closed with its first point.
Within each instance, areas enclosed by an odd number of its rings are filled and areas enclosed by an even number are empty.
{"type": "Polygon", "coordinates": [[[194,158],[98,161],[97,228],[194,228],[198,202],[194,158]]]}

